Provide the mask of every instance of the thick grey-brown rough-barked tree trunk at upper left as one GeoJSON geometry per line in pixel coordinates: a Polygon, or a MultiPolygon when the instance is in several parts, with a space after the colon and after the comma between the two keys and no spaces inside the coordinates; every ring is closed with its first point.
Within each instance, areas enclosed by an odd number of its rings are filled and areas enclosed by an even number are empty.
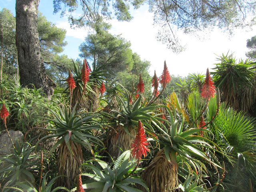
{"type": "Polygon", "coordinates": [[[47,98],[53,94],[56,85],[46,75],[41,58],[37,30],[39,0],[16,0],[16,45],[20,70],[20,84],[42,88],[47,98]]]}

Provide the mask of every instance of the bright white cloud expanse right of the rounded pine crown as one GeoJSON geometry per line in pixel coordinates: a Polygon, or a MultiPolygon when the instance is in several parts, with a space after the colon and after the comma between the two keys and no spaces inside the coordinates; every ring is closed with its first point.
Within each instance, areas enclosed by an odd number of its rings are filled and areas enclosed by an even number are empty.
{"type": "MultiPolygon", "coordinates": [[[[174,54],[172,50],[156,40],[157,29],[153,28],[153,14],[145,10],[145,7],[134,11],[134,20],[131,22],[118,22],[112,20],[112,34],[122,34],[122,37],[132,44],[133,52],[142,59],[151,62],[150,74],[154,70],[158,76],[162,73],[164,60],[166,60],[171,74],[187,76],[189,73],[206,73],[206,69],[213,68],[218,61],[216,58],[222,53],[233,53],[238,58],[246,58],[246,40],[254,36],[254,32],[237,30],[232,38],[215,29],[208,32],[204,41],[196,37],[182,35],[186,44],[186,50],[180,54],[174,54]]],[[[211,70],[210,70],[211,71],[211,70]]]]}

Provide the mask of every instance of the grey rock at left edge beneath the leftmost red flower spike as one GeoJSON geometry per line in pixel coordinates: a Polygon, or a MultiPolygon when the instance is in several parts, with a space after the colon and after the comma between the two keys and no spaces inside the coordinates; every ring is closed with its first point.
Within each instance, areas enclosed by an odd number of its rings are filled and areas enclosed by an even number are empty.
{"type": "MultiPolygon", "coordinates": [[[[20,143],[24,143],[24,135],[20,131],[8,130],[10,137],[12,138],[12,142],[15,146],[15,139],[18,139],[20,143]]],[[[0,136],[0,150],[12,152],[12,142],[5,132],[0,136]]],[[[6,153],[0,151],[0,155],[6,155],[6,153]]]]}

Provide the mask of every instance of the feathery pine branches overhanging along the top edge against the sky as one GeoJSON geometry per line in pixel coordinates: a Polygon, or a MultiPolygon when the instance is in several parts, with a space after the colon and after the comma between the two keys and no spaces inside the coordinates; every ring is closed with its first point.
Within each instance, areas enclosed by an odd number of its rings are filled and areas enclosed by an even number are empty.
{"type": "Polygon", "coordinates": [[[114,15],[119,21],[130,21],[130,6],[136,9],[145,2],[149,5],[149,11],[154,13],[154,24],[160,26],[158,40],[174,52],[183,50],[178,30],[191,34],[218,27],[231,34],[235,28],[255,24],[253,15],[256,2],[253,0],[116,0],[112,6],[106,0],[80,0],[83,13],[77,18],[72,14],[78,8],[77,0],[54,0],[54,13],[60,10],[62,15],[68,13],[70,23],[76,26],[90,25],[102,18],[111,19],[114,15]],[[248,16],[252,18],[247,19],[248,16]]]}

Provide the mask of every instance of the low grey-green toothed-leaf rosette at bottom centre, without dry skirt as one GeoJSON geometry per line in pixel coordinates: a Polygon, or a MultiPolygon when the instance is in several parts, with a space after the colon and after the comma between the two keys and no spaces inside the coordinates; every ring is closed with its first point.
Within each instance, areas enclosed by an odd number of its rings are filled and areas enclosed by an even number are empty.
{"type": "MultiPolygon", "coordinates": [[[[136,161],[134,159],[130,161],[129,158],[130,151],[125,151],[110,165],[101,160],[94,160],[98,166],[90,163],[82,164],[89,172],[81,176],[90,178],[82,187],[90,192],[142,192],[136,188],[135,184],[139,184],[149,192],[142,179],[131,175],[131,172],[136,173],[138,170],[136,170],[136,161]]],[[[70,192],[75,190],[76,188],[70,192]]]]}

